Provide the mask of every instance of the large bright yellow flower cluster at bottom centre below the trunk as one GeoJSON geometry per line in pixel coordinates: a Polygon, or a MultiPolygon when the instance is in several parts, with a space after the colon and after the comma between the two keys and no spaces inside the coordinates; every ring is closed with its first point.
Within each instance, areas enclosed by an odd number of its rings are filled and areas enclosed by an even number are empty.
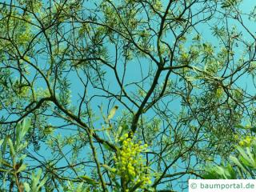
{"type": "Polygon", "coordinates": [[[144,165],[141,153],[146,150],[147,145],[142,145],[142,142],[135,144],[128,134],[121,138],[122,147],[114,157],[115,167],[118,175],[125,178],[127,183],[139,183],[141,188],[150,185],[151,180],[144,165]]]}

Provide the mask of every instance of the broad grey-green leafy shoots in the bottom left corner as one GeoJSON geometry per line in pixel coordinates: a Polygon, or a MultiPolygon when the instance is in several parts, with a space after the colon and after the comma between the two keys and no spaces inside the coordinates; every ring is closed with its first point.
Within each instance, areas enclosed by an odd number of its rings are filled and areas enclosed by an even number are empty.
{"type": "MultiPolygon", "coordinates": [[[[28,142],[26,142],[25,136],[30,130],[30,120],[24,119],[22,123],[18,123],[15,131],[15,141],[13,142],[10,136],[1,140],[1,172],[5,175],[5,178],[10,178],[10,186],[14,185],[14,182],[17,186],[17,191],[23,191],[23,188],[26,192],[38,192],[42,191],[42,187],[46,183],[46,177],[41,179],[42,170],[38,170],[38,174],[30,174],[26,171],[26,147],[28,142]],[[10,157],[6,156],[10,154],[10,157]],[[31,178],[31,182],[23,182],[20,178],[21,175],[27,175],[31,178]]],[[[3,179],[3,183],[6,183],[6,179],[3,179]]]]}

